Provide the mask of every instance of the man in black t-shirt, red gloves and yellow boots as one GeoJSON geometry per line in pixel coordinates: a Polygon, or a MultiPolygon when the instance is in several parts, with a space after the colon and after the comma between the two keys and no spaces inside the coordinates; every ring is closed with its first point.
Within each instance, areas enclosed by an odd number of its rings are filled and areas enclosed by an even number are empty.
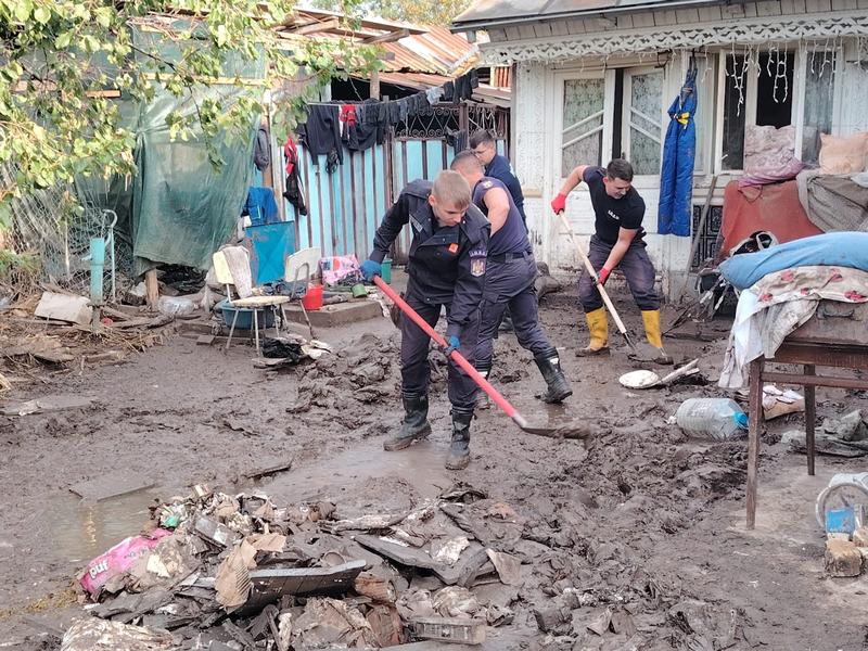
{"type": "MultiPolygon", "coordinates": [[[[636,305],[642,311],[648,343],[659,352],[655,361],[672,363],[672,358],[663,350],[660,295],[654,288],[654,265],[648,257],[643,239],[644,201],[633,188],[633,166],[623,158],[615,158],[605,168],[579,165],[570,173],[561,192],[551,202],[556,215],[566,207],[566,195],[583,180],[588,184],[596,215],[588,259],[599,282],[605,284],[615,268],[624,272],[636,305]]],[[[588,321],[590,344],[577,354],[583,357],[605,354],[609,352],[605,308],[593,279],[584,272],[578,281],[578,296],[588,321]]]]}

